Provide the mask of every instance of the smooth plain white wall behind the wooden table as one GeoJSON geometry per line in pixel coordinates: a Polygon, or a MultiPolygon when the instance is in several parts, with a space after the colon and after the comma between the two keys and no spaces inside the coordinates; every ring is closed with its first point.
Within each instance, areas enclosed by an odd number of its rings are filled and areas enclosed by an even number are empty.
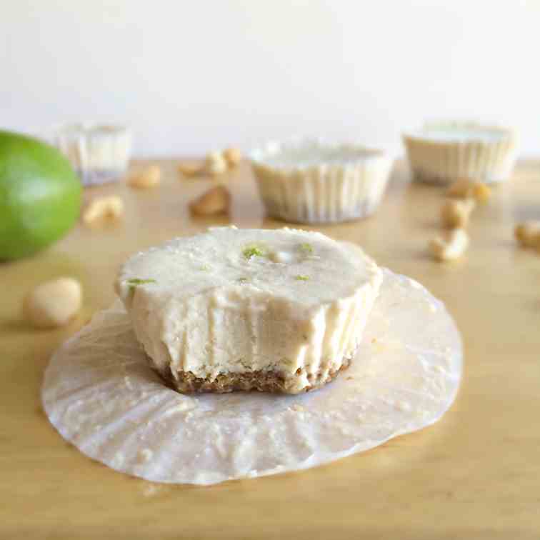
{"type": "Polygon", "coordinates": [[[0,0],[0,126],[122,122],[139,156],[508,123],[540,156],[540,2],[0,0]]]}

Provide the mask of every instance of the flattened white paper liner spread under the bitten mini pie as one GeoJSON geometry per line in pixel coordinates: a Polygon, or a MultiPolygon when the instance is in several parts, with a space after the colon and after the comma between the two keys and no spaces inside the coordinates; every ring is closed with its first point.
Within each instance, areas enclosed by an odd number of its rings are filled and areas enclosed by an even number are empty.
{"type": "Polygon", "coordinates": [[[351,367],[299,396],[183,396],[152,371],[119,302],[54,354],[44,409],[64,439],[150,481],[216,484],[306,469],[441,418],[461,378],[461,339],[441,301],[384,283],[351,367]]]}

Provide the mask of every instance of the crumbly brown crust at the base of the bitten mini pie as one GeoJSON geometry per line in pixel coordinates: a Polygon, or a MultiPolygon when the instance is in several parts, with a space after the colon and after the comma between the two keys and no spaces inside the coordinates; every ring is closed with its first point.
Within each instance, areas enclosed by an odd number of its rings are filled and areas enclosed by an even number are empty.
{"type": "MultiPolygon", "coordinates": [[[[298,389],[294,379],[288,381],[276,371],[251,371],[244,373],[219,374],[215,379],[202,379],[195,376],[191,371],[178,371],[174,376],[170,371],[161,377],[168,386],[181,392],[181,394],[195,394],[199,392],[213,392],[214,394],[226,394],[232,391],[260,391],[273,394],[301,394],[324,386],[334,379],[339,371],[349,367],[350,360],[344,359],[339,369],[329,371],[326,376],[309,375],[309,385],[298,389]]],[[[300,376],[301,372],[298,373],[300,376]]]]}

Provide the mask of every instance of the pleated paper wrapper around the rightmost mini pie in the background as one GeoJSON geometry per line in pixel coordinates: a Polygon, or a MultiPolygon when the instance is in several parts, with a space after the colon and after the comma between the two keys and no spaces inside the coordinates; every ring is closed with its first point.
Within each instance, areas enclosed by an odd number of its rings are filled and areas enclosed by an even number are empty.
{"type": "Polygon", "coordinates": [[[517,156],[517,141],[428,141],[404,136],[414,179],[448,185],[458,179],[495,184],[511,176],[517,156]]]}

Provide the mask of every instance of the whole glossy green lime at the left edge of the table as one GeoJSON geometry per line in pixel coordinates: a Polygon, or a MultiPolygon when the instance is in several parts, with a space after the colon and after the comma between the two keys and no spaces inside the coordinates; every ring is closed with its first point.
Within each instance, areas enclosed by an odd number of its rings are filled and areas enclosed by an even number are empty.
{"type": "Polygon", "coordinates": [[[0,130],[0,260],[50,246],[74,225],[81,181],[53,146],[0,130]]]}

